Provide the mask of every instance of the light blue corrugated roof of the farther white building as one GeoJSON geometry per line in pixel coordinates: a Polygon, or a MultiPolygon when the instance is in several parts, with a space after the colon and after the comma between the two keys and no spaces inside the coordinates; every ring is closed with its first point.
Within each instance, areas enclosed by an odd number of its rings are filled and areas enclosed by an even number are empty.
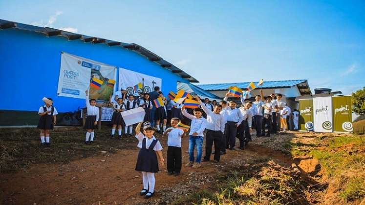
{"type": "MultiPolygon", "coordinates": [[[[232,82],[232,83],[217,83],[217,84],[199,84],[200,88],[208,91],[227,90],[230,86],[237,86],[241,89],[246,89],[250,82],[232,82]]],[[[255,85],[258,82],[254,82],[255,85]]],[[[265,81],[260,88],[285,88],[291,86],[298,86],[302,95],[310,95],[311,91],[307,80],[290,80],[290,81],[265,81]]]]}

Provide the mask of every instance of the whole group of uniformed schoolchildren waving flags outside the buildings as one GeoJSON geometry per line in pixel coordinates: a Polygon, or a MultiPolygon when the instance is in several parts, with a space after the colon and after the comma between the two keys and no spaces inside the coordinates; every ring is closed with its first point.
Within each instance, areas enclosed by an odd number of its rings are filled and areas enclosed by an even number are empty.
{"type": "MultiPolygon", "coordinates": [[[[143,94],[143,99],[139,102],[135,100],[133,95],[129,95],[128,99],[126,99],[126,95],[118,97],[115,99],[116,103],[110,98],[110,103],[114,109],[111,121],[111,138],[114,137],[116,128],[118,128],[118,136],[121,138],[123,126],[126,135],[127,133],[132,134],[132,125],[125,126],[121,112],[138,106],[143,107],[146,112],[144,121],[138,123],[135,128],[135,137],[138,139],[137,146],[140,148],[135,170],[142,172],[143,189],[140,192],[141,196],[150,198],[154,194],[154,173],[159,171],[157,156],[161,166],[164,165],[161,152],[162,145],[154,137],[156,131],[161,131],[164,136],[168,137],[168,175],[178,176],[180,174],[182,167],[181,138],[186,134],[189,135],[189,162],[185,164],[186,166],[199,168],[202,166],[202,161],[208,162],[211,160],[212,154],[214,155],[214,162],[218,163],[220,156],[226,154],[226,149],[236,150],[236,138],[239,139],[239,149],[244,149],[245,145],[251,141],[253,122],[258,137],[270,136],[272,131],[277,131],[277,128],[273,125],[274,119],[277,119],[278,116],[280,119],[286,119],[286,116],[290,114],[290,108],[288,109],[285,103],[281,102],[282,96],[280,94],[274,100],[272,95],[275,97],[275,94],[272,94],[266,97],[265,101],[261,99],[261,96],[263,96],[261,90],[260,94],[256,96],[254,102],[251,102],[248,99],[249,93],[242,93],[242,106],[239,108],[236,108],[235,101],[227,101],[229,94],[219,104],[216,102],[210,103],[209,99],[204,99],[202,102],[199,97],[194,96],[194,100],[199,102],[199,107],[185,109],[183,104],[178,104],[172,100],[168,102],[163,94],[159,92],[157,97],[163,99],[164,105],[155,109],[153,119],[151,118],[153,104],[148,93],[143,94]],[[167,109],[169,104],[172,106],[170,110],[167,109]],[[168,113],[169,111],[170,113],[168,113]],[[183,118],[190,121],[189,133],[185,133],[187,130],[178,128],[178,124],[183,118]],[[171,119],[170,128],[166,128],[168,119],[171,119]],[[155,126],[152,126],[151,121],[155,122],[155,126]],[[162,124],[162,129],[160,124],[162,124]],[[268,128],[266,135],[265,127],[268,128]],[[202,157],[204,137],[206,140],[205,156],[202,157]],[[212,150],[213,144],[214,151],[212,150]],[[195,149],[196,157],[194,156],[195,149]]],[[[53,129],[57,115],[57,110],[52,105],[52,99],[48,100],[44,106],[40,107],[39,114],[41,118],[38,125],[41,130],[41,142],[46,145],[49,145],[49,130],[53,129]]],[[[95,126],[99,120],[99,108],[96,106],[95,99],[88,99],[87,91],[86,108],[87,118],[84,127],[87,130],[85,142],[88,144],[93,143],[94,140],[95,126]]],[[[275,123],[277,122],[275,121],[275,123]]],[[[282,120],[281,125],[285,130],[286,120],[285,122],[282,120]]]]}

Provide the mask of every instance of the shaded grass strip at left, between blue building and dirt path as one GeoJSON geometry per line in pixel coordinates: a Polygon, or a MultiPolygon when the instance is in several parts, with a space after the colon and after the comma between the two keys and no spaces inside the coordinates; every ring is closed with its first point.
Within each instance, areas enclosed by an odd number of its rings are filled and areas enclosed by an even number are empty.
{"type": "Polygon", "coordinates": [[[67,163],[88,156],[98,155],[101,150],[116,153],[118,149],[135,148],[133,137],[110,140],[110,128],[103,126],[95,131],[93,144],[85,144],[86,131],[82,127],[57,128],[50,133],[50,147],[40,143],[36,128],[1,129],[0,173],[14,172],[31,164],[67,163]]]}

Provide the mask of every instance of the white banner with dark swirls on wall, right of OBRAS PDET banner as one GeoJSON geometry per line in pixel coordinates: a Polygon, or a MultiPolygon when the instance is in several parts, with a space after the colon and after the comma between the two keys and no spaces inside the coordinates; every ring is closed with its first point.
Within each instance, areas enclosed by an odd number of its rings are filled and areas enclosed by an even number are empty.
{"type": "Polygon", "coordinates": [[[160,78],[119,68],[119,89],[126,89],[128,94],[149,93],[156,86],[162,90],[162,80],[160,78]]]}

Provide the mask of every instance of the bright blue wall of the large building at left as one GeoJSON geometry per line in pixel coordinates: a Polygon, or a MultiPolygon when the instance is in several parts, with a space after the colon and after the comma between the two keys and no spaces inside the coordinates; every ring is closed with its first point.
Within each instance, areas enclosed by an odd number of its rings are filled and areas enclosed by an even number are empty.
{"type": "MultiPolygon", "coordinates": [[[[17,29],[0,30],[0,110],[38,111],[43,96],[54,99],[59,112],[85,106],[85,100],[57,96],[61,52],[122,67],[162,79],[164,94],[188,82],[147,58],[124,49],[17,29]]],[[[119,69],[117,71],[119,73],[119,69]]],[[[118,75],[118,74],[117,74],[118,75]]]]}

